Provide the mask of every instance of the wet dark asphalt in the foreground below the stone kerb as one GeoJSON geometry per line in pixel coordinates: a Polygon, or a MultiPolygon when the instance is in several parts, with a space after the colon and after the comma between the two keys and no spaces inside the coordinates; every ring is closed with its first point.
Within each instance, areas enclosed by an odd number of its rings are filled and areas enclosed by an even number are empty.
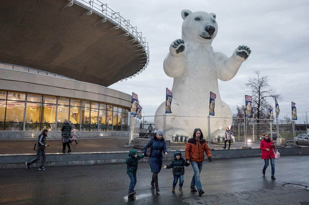
{"type": "MultiPolygon", "coordinates": [[[[166,164],[166,162],[163,162],[166,164]]],[[[126,165],[98,164],[0,170],[0,204],[309,204],[309,156],[282,156],[262,175],[260,157],[204,161],[201,182],[205,194],[190,192],[191,165],[185,167],[183,194],[171,192],[171,169],[159,173],[160,194],[150,189],[149,163],[139,163],[136,200],[127,197],[126,165]],[[304,189],[284,184],[303,185],[304,189]]]]}

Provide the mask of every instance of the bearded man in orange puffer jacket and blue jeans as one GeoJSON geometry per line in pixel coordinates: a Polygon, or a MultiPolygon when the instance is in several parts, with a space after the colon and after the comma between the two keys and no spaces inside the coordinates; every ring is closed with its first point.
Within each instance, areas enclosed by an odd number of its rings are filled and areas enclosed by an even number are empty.
{"type": "Polygon", "coordinates": [[[211,152],[204,139],[203,133],[200,128],[194,129],[193,138],[189,139],[186,144],[186,160],[187,163],[191,162],[194,175],[191,181],[191,191],[198,191],[198,195],[201,196],[204,194],[201,185],[200,173],[204,161],[204,151],[207,155],[208,162],[211,162],[211,152]],[[195,189],[195,185],[197,190],[195,189]]]}

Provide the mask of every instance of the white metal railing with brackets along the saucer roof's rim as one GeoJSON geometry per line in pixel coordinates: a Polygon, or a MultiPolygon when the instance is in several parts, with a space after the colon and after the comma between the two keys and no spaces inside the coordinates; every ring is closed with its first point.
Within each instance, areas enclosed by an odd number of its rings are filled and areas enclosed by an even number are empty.
{"type": "MultiPolygon", "coordinates": [[[[137,56],[140,56],[138,59],[140,59],[139,64],[140,67],[137,68],[136,72],[125,77],[124,79],[120,80],[127,80],[128,78],[135,77],[135,75],[138,75],[139,73],[142,73],[143,70],[148,66],[149,64],[149,47],[148,47],[148,42],[146,42],[146,38],[142,37],[142,32],[137,31],[137,26],[132,26],[130,24],[130,20],[124,19],[121,15],[120,12],[116,12],[109,8],[107,4],[102,3],[99,0],[68,0],[70,1],[66,5],[64,5],[61,10],[66,8],[67,6],[72,6],[74,3],[86,8],[88,11],[83,13],[80,17],[84,15],[91,15],[92,13],[95,13],[102,18],[99,19],[97,22],[95,22],[92,26],[99,24],[99,23],[104,23],[106,21],[114,23],[116,26],[113,26],[107,30],[112,30],[112,29],[119,29],[121,28],[124,30],[126,33],[120,34],[116,36],[115,38],[121,37],[121,36],[131,36],[133,39],[128,40],[125,42],[138,42],[138,44],[129,46],[129,47],[135,47],[136,50],[134,51],[145,51],[145,53],[142,54],[137,54],[137,56]],[[145,55],[145,56],[144,56],[145,55]]],[[[61,11],[60,10],[60,11],[61,11]]],[[[106,30],[106,31],[107,31],[106,30]]]]}

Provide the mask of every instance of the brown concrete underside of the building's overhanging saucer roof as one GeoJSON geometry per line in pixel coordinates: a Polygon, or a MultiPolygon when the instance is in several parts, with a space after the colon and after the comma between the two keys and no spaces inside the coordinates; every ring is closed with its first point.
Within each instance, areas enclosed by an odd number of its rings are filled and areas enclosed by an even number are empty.
{"type": "Polygon", "coordinates": [[[133,46],[138,42],[130,41],[131,35],[121,35],[126,31],[113,29],[110,21],[95,24],[102,19],[98,14],[80,17],[87,9],[75,3],[61,10],[67,3],[1,1],[0,62],[103,86],[142,69],[146,62],[140,61],[147,59],[138,58],[146,57],[147,51],[133,46]]]}

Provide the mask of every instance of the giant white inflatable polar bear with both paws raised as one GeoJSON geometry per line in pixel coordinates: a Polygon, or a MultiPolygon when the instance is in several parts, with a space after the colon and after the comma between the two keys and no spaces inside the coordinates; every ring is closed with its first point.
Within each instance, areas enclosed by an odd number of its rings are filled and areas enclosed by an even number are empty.
{"type": "MultiPolygon", "coordinates": [[[[210,91],[217,95],[214,117],[210,118],[211,140],[222,142],[226,127],[232,125],[232,111],[220,98],[218,79],[231,80],[251,53],[247,46],[238,46],[231,57],[214,52],[211,43],[218,32],[214,13],[182,10],[182,39],[171,43],[164,60],[164,72],[174,78],[171,114],[166,114],[165,137],[186,142],[194,128],[208,135],[210,91]],[[188,117],[179,117],[188,116],[188,117]],[[219,140],[220,139],[220,140],[219,140]]],[[[163,129],[165,102],[156,111],[155,127],[163,129]]]]}

